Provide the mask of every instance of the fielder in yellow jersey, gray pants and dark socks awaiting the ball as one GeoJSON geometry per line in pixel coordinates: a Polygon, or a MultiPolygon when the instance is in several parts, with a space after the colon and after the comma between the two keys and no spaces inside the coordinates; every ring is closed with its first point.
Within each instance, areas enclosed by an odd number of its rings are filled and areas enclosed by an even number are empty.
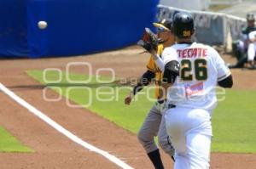
{"type": "MultiPolygon", "coordinates": [[[[157,53],[161,55],[164,48],[174,44],[174,36],[171,32],[172,20],[161,20],[159,23],[154,23],[157,27],[158,37],[160,44],[157,47],[157,53]]],[[[147,86],[150,82],[155,81],[155,97],[160,98],[160,85],[162,81],[162,70],[157,65],[154,56],[151,56],[148,60],[148,70],[143,74],[140,82],[133,88],[133,91],[125,98],[125,104],[130,104],[132,97],[143,89],[143,86],[147,86]]],[[[160,152],[157,145],[154,143],[154,137],[158,136],[160,147],[171,157],[174,154],[174,149],[170,143],[167,133],[166,124],[163,120],[164,112],[161,112],[160,107],[162,100],[158,100],[153,105],[152,109],[149,110],[148,116],[143,122],[143,126],[137,134],[139,142],[143,145],[146,150],[150,161],[152,161],[155,169],[164,169],[160,158],[160,152]]],[[[173,157],[172,157],[173,158],[173,157]]]]}

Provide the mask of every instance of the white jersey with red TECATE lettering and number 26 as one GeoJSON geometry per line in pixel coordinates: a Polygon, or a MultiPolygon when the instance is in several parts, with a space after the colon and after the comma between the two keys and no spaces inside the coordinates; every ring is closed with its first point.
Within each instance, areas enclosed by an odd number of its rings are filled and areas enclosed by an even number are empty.
{"type": "Polygon", "coordinates": [[[217,105],[216,86],[230,76],[218,52],[207,45],[177,43],[162,54],[164,63],[176,59],[180,74],[168,91],[167,102],[180,107],[212,110],[217,105]]]}

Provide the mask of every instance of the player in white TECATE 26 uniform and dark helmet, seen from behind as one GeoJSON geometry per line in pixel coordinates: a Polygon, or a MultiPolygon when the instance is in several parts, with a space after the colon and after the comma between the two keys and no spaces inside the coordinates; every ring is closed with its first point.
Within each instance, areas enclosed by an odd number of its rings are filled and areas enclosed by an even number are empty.
{"type": "Polygon", "coordinates": [[[232,87],[232,76],[215,49],[192,42],[195,29],[190,14],[175,14],[172,32],[177,44],[163,51],[162,60],[164,86],[169,89],[166,131],[175,149],[174,169],[207,169],[215,87],[232,87]]]}

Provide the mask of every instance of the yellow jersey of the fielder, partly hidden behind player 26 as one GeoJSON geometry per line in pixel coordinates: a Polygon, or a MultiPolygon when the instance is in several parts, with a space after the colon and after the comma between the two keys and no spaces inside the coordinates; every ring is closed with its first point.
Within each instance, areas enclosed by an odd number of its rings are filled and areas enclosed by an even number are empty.
{"type": "MultiPolygon", "coordinates": [[[[164,50],[164,46],[162,44],[158,45],[157,54],[161,56],[161,54],[163,53],[163,50],[164,50]]],[[[155,98],[158,99],[160,96],[160,87],[159,86],[161,85],[161,81],[163,79],[163,74],[162,74],[160,68],[158,67],[158,65],[156,65],[156,63],[154,62],[153,56],[150,56],[150,59],[148,60],[147,68],[150,71],[154,71],[155,98]]]]}

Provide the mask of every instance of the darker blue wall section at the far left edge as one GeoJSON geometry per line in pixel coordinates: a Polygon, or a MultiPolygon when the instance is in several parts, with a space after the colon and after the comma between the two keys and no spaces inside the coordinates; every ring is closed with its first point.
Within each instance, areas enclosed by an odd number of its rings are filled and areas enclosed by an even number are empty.
{"type": "Polygon", "coordinates": [[[29,54],[27,44],[26,0],[0,1],[0,56],[29,54]]]}

